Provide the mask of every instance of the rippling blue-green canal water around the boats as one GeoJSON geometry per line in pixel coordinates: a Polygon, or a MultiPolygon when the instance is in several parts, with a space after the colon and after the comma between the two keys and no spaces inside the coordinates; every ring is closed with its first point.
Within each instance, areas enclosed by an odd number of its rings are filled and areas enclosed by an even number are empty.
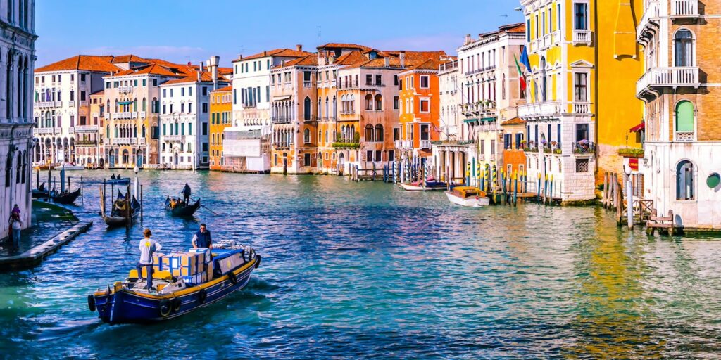
{"type": "MultiPolygon", "coordinates": [[[[0,355],[23,358],[709,358],[721,351],[721,241],[647,238],[596,207],[454,207],[332,176],[143,171],[143,226],[182,250],[200,222],[262,254],[247,289],[156,325],[100,322],[87,294],[123,279],[141,226],[89,233],[0,274],[0,355]],[[163,211],[193,187],[208,210],[163,211]]],[[[123,172],[131,176],[131,172],[123,172]]],[[[74,179],[73,181],[76,181],[74,179]]]]}

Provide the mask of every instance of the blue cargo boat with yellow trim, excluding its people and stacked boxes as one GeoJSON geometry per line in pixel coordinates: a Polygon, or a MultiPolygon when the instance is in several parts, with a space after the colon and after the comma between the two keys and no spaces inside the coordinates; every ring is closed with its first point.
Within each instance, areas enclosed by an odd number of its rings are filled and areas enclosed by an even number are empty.
{"type": "Polygon", "coordinates": [[[212,267],[205,265],[206,269],[213,269],[206,276],[207,281],[196,284],[177,279],[170,271],[154,271],[154,289],[148,290],[144,289],[146,282],[138,279],[137,270],[131,270],[124,282],[109,284],[106,289],[88,295],[89,310],[97,311],[98,318],[110,325],[177,318],[242,290],[260,265],[260,255],[250,246],[205,250],[212,251],[213,259],[212,267]]]}

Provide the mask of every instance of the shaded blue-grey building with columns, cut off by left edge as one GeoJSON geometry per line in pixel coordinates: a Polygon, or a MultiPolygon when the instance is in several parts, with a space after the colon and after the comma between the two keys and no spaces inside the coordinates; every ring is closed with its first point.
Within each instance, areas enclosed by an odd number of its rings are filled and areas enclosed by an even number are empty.
{"type": "Polygon", "coordinates": [[[35,1],[0,0],[0,24],[0,238],[5,238],[14,204],[23,228],[30,225],[35,1]]]}

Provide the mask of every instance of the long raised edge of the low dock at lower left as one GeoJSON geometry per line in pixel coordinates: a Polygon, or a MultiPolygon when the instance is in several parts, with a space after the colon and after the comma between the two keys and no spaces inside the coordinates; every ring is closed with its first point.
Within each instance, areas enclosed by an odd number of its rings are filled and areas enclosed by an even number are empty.
{"type": "Polygon", "coordinates": [[[78,222],[72,228],[50,238],[50,240],[34,246],[24,253],[0,258],[0,271],[28,269],[37,266],[40,262],[54,253],[61,246],[73,240],[81,233],[86,232],[92,226],[92,222],[78,222]]]}

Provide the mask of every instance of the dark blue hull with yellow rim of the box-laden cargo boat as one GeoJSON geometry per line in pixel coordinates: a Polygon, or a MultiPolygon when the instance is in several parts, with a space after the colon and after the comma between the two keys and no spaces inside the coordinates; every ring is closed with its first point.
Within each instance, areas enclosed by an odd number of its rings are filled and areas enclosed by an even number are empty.
{"type": "Polygon", "coordinates": [[[110,325],[129,323],[155,323],[162,320],[177,318],[185,315],[199,307],[213,304],[223,299],[232,292],[243,289],[250,280],[250,274],[259,264],[260,257],[243,264],[234,269],[237,282],[233,284],[229,276],[224,275],[210,282],[195,287],[188,287],[178,294],[141,294],[129,289],[121,289],[118,292],[96,292],[94,305],[98,317],[104,323],[110,325]],[[205,290],[205,300],[202,299],[201,290],[205,290]],[[180,306],[174,309],[177,300],[180,299],[180,306]]]}

